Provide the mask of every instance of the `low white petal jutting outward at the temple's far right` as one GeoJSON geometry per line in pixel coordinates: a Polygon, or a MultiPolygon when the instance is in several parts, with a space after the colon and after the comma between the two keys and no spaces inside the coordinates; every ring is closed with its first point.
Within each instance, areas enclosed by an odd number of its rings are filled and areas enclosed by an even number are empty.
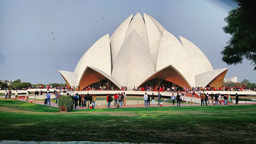
{"type": "MultiPolygon", "coordinates": [[[[222,72],[228,70],[228,68],[214,69],[207,71],[195,76],[196,86],[205,87],[208,85],[216,76],[220,75],[222,72]]],[[[225,76],[225,75],[224,75],[225,76]]],[[[224,77],[223,77],[224,78],[224,77]]],[[[223,80],[222,80],[223,81],[223,80]]]]}

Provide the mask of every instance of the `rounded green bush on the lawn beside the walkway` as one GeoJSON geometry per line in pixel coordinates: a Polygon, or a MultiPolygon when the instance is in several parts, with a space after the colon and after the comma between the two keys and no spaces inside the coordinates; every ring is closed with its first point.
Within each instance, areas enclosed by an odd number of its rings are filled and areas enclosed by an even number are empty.
{"type": "Polygon", "coordinates": [[[74,107],[74,100],[65,95],[65,96],[61,96],[59,99],[58,99],[58,103],[59,103],[59,109],[61,107],[66,107],[66,110],[67,111],[71,111],[74,107]]]}

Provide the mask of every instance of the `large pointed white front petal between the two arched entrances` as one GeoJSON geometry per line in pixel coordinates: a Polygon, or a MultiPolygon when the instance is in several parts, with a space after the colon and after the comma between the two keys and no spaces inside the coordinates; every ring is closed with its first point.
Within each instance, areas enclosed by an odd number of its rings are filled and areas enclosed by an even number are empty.
{"type": "Polygon", "coordinates": [[[155,72],[148,47],[136,30],[125,39],[115,63],[112,77],[128,89],[139,86],[155,72]]]}

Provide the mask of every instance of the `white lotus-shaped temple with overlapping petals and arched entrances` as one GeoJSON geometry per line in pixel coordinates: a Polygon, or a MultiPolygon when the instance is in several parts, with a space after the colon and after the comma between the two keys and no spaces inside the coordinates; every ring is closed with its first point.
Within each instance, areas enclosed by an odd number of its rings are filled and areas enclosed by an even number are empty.
{"type": "Polygon", "coordinates": [[[151,86],[221,86],[228,68],[213,69],[192,42],[177,39],[143,13],[130,15],[114,33],[102,36],[82,56],[74,72],[58,70],[70,86],[128,89],[151,86]]]}

